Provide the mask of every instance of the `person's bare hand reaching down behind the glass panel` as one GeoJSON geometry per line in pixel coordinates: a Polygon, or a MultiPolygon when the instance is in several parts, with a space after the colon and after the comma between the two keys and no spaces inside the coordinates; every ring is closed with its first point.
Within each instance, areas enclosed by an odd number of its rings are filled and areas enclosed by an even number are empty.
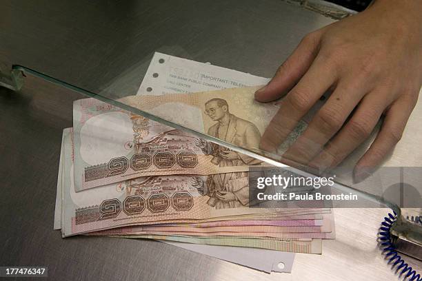
{"type": "Polygon", "coordinates": [[[255,93],[261,102],[285,96],[261,148],[274,152],[324,92],[332,90],[283,158],[328,170],[368,138],[384,115],[381,130],[354,167],[355,179],[381,164],[400,140],[421,89],[421,14],[422,1],[377,0],[304,37],[268,85],[255,93]]]}

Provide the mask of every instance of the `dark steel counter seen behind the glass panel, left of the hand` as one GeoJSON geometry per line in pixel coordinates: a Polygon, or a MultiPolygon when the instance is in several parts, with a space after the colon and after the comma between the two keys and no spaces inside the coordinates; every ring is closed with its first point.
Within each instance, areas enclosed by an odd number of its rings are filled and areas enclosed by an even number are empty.
{"type": "Polygon", "coordinates": [[[96,91],[138,68],[124,81],[132,94],[155,51],[269,77],[303,35],[333,21],[280,0],[0,5],[0,61],[96,91]]]}

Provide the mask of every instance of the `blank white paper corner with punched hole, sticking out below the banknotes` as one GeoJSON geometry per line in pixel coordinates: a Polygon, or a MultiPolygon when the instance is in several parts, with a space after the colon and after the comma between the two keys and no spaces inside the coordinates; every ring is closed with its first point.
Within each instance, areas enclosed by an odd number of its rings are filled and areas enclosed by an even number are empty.
{"type": "Polygon", "coordinates": [[[204,255],[219,258],[220,260],[227,260],[229,262],[234,262],[235,264],[241,264],[252,269],[265,271],[267,273],[271,273],[271,271],[285,273],[292,272],[294,253],[163,240],[161,240],[161,242],[172,244],[197,253],[203,253],[204,255]]]}

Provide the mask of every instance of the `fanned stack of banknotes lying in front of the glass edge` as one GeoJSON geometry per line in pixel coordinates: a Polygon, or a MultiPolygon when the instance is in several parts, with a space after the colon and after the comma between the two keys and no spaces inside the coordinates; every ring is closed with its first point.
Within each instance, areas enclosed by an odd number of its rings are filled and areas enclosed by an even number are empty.
{"type": "MultiPolygon", "coordinates": [[[[152,105],[137,97],[125,103],[152,105]]],[[[93,98],[75,101],[73,114],[73,128],[63,130],[54,216],[63,237],[297,253],[321,253],[322,240],[334,238],[328,208],[249,206],[248,169],[265,165],[256,159],[93,98]]],[[[207,122],[199,130],[214,124],[207,122]]]]}

